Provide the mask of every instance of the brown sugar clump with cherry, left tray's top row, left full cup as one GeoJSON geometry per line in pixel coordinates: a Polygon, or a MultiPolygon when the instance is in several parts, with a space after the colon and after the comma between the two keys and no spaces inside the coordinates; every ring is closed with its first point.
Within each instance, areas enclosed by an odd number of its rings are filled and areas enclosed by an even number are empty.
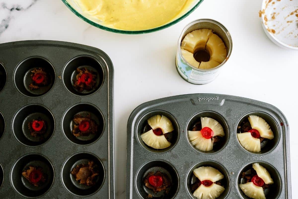
{"type": "Polygon", "coordinates": [[[49,84],[49,77],[44,68],[33,69],[31,71],[31,80],[32,83],[29,85],[30,90],[35,90],[49,84]]]}

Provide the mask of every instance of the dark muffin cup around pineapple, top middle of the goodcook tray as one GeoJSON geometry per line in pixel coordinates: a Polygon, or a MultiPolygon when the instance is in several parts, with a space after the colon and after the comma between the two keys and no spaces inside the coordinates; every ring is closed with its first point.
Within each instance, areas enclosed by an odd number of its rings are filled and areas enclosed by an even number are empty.
{"type": "Polygon", "coordinates": [[[221,116],[220,114],[214,111],[201,111],[195,114],[194,116],[192,116],[188,121],[186,125],[186,137],[188,139],[189,144],[196,151],[200,153],[205,153],[205,154],[214,154],[214,153],[218,153],[219,151],[224,149],[224,147],[226,147],[226,144],[228,144],[229,142],[230,131],[229,131],[228,123],[226,122],[223,116],[221,116]],[[192,144],[189,138],[188,131],[193,131],[193,128],[195,128],[197,125],[201,127],[201,117],[209,117],[209,118],[215,119],[223,127],[223,130],[224,130],[225,135],[223,137],[220,137],[219,141],[213,144],[213,149],[211,151],[199,150],[192,144]]]}

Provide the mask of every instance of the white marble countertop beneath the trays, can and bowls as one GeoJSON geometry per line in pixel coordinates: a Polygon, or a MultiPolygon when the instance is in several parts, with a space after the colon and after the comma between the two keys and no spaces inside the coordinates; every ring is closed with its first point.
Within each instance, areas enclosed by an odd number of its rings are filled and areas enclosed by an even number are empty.
{"type": "Polygon", "coordinates": [[[111,57],[115,69],[116,198],[125,198],[126,123],[130,113],[143,102],[188,93],[247,97],[283,111],[291,128],[292,198],[298,198],[298,51],[282,49],[267,38],[258,16],[261,3],[205,0],[172,27],[145,35],[121,35],[87,24],[60,0],[0,0],[0,43],[69,41],[100,48],[111,57]],[[234,45],[219,77],[207,85],[184,81],[174,61],[181,30],[198,18],[220,21],[229,29],[234,45]]]}

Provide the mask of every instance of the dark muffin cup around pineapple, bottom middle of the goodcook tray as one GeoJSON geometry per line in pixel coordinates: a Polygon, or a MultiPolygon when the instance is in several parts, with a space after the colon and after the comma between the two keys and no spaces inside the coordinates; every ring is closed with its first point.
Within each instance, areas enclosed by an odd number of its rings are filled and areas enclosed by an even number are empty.
{"type": "Polygon", "coordinates": [[[188,170],[187,174],[186,174],[186,178],[185,178],[185,184],[186,184],[186,190],[188,195],[190,196],[190,198],[192,199],[197,199],[194,195],[193,192],[191,190],[191,186],[196,182],[196,176],[193,174],[193,170],[195,170],[196,168],[199,167],[213,167],[215,169],[217,169],[219,172],[221,172],[222,175],[224,175],[224,178],[222,180],[220,180],[221,186],[224,186],[225,190],[224,192],[216,199],[225,199],[228,197],[230,189],[231,189],[231,185],[230,185],[230,175],[228,173],[228,171],[226,170],[226,168],[219,164],[218,162],[215,162],[213,160],[205,160],[205,161],[201,161],[198,162],[196,164],[194,164],[190,170],[188,170]]]}

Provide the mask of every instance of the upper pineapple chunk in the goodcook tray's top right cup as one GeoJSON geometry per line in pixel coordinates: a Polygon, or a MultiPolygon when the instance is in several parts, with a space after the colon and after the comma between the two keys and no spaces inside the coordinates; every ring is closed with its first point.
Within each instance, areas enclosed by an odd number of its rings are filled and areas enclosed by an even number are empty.
{"type": "Polygon", "coordinates": [[[256,115],[250,115],[248,117],[248,120],[252,128],[257,129],[259,131],[261,137],[267,138],[270,140],[274,138],[274,135],[270,126],[263,118],[256,115]]]}

